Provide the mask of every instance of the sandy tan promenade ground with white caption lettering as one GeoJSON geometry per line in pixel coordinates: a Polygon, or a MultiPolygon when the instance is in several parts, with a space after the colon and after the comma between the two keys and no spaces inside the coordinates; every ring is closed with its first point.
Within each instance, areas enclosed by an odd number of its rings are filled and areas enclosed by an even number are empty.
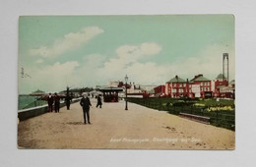
{"type": "Polygon", "coordinates": [[[20,122],[20,148],[234,149],[235,134],[124,101],[91,99],[91,125],[83,124],[79,103],[71,110],[46,113],[20,122]]]}

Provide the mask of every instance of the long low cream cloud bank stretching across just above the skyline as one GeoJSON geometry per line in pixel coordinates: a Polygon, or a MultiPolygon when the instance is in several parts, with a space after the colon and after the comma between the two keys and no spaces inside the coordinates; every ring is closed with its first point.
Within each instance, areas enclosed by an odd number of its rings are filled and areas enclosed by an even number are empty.
{"type": "Polygon", "coordinates": [[[234,49],[221,45],[211,45],[198,52],[198,56],[179,58],[174,62],[157,64],[143,62],[142,58],[157,56],[161,47],[157,43],[125,45],[116,49],[116,58],[110,60],[100,54],[86,55],[84,61],[55,63],[43,68],[26,69],[32,79],[24,79],[25,87],[31,91],[37,88],[56,91],[71,86],[95,86],[110,81],[124,81],[127,74],[129,82],[141,84],[164,84],[175,75],[182,79],[192,79],[204,74],[210,80],[222,72],[223,53],[229,54],[229,79],[234,79],[234,49]],[[147,48],[151,48],[147,50],[147,48]],[[36,87],[34,87],[36,85],[36,87]]]}

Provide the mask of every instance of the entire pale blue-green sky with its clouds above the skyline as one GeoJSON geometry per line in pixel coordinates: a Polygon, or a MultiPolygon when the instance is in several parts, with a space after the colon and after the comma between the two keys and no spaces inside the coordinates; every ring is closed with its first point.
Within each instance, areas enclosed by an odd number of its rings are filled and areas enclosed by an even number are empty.
{"type": "Polygon", "coordinates": [[[21,17],[19,92],[122,81],[163,84],[175,75],[214,79],[229,53],[234,79],[232,15],[21,17]]]}

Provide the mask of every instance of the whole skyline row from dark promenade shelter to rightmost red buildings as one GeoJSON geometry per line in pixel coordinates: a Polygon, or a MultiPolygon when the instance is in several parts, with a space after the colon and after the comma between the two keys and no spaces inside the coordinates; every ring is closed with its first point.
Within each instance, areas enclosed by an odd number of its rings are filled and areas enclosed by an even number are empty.
{"type": "Polygon", "coordinates": [[[192,80],[175,76],[162,85],[110,82],[108,85],[98,86],[96,90],[102,92],[104,102],[117,102],[119,98],[125,97],[126,88],[128,97],[234,98],[234,85],[234,81],[228,83],[223,74],[218,75],[215,80],[209,80],[199,74],[192,80]]]}

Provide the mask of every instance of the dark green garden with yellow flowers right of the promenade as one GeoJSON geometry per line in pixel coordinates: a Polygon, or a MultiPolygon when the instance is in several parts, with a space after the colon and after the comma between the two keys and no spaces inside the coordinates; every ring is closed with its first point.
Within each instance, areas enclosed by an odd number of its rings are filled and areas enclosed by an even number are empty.
{"type": "Polygon", "coordinates": [[[232,131],[235,130],[234,101],[223,100],[216,102],[216,99],[186,101],[186,99],[180,100],[178,98],[127,98],[127,100],[148,108],[167,111],[173,115],[185,113],[209,117],[211,125],[232,131]],[[196,105],[198,103],[205,103],[207,105],[196,105]]]}

